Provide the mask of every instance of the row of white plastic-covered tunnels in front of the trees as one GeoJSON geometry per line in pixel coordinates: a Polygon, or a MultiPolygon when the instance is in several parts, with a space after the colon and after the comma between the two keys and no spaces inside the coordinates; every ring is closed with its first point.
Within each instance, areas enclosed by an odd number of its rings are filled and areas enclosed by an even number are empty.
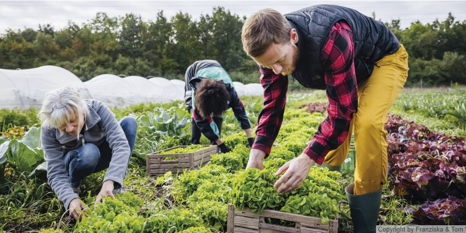
{"type": "MultiPolygon", "coordinates": [[[[33,69],[0,69],[0,109],[38,108],[50,90],[68,86],[82,98],[97,99],[109,107],[183,100],[184,81],[166,78],[104,74],[81,81],[64,68],[52,65],[33,69]]],[[[262,95],[260,84],[233,82],[238,95],[262,95]]]]}

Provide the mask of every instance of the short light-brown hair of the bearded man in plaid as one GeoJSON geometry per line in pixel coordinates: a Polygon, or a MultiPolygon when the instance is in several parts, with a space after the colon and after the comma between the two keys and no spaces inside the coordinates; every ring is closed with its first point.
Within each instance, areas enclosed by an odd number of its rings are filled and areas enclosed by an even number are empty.
{"type": "Polygon", "coordinates": [[[272,43],[289,42],[291,29],[288,20],[278,11],[260,10],[244,22],[241,30],[243,49],[250,57],[261,56],[272,43]]]}

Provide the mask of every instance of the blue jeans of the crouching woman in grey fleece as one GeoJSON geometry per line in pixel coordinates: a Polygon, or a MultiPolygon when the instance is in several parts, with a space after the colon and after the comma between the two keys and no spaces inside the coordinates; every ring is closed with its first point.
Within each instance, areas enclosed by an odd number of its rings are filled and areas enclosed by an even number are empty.
{"type": "MultiPolygon", "coordinates": [[[[136,143],[137,123],[133,117],[123,117],[119,122],[126,140],[130,145],[130,157],[133,155],[134,144],[136,143]]],[[[69,182],[72,187],[79,187],[81,181],[88,175],[107,169],[112,160],[112,149],[105,140],[100,147],[92,143],[85,143],[65,155],[65,166],[69,174],[69,182]]],[[[128,164],[130,159],[128,159],[128,164]]],[[[128,164],[126,170],[128,170],[128,164]]],[[[126,178],[126,171],[125,176],[126,178]]]]}

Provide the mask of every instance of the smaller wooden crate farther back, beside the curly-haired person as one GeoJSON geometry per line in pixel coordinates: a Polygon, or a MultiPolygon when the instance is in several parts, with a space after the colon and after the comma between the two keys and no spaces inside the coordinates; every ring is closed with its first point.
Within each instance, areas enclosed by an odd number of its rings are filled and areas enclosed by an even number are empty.
{"type": "MultiPolygon", "coordinates": [[[[188,146],[175,146],[163,151],[188,146]]],[[[164,175],[166,172],[180,173],[184,170],[199,169],[210,161],[210,155],[217,153],[217,145],[205,145],[205,149],[191,153],[160,154],[158,151],[146,155],[147,174],[152,176],[164,175]],[[166,157],[176,157],[174,160],[164,160],[166,157]]]]}

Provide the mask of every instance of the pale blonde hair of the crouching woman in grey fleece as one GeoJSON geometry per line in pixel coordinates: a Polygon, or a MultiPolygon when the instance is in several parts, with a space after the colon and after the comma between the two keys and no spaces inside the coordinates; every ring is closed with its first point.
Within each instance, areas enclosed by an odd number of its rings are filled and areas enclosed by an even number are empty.
{"type": "Polygon", "coordinates": [[[42,126],[59,128],[77,116],[78,128],[81,128],[79,117],[83,116],[84,119],[87,114],[89,114],[89,109],[79,94],[68,87],[63,87],[46,94],[37,117],[42,126]]]}

